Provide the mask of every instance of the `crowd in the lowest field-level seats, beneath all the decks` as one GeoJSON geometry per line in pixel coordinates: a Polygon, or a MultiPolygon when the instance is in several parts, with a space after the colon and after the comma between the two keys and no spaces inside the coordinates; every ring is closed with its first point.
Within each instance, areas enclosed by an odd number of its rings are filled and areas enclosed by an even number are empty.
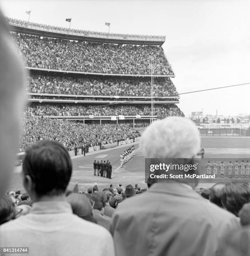
{"type": "Polygon", "coordinates": [[[82,145],[99,146],[123,139],[132,139],[140,134],[129,124],[84,124],[68,120],[43,117],[23,118],[20,152],[40,140],[54,140],[69,151],[82,145]]]}

